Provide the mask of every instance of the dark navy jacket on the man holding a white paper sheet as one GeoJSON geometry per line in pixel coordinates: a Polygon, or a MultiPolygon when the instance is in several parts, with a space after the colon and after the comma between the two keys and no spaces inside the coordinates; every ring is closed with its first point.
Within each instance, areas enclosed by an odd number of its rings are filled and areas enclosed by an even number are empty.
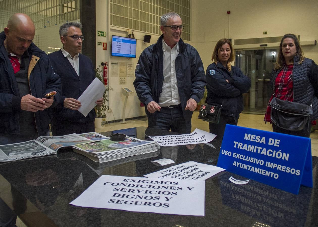
{"type": "Polygon", "coordinates": [[[91,59],[85,55],[79,54],[79,75],[77,75],[73,66],[64,57],[61,50],[55,51],[48,55],[51,59],[54,71],[61,77],[62,96],[59,104],[53,109],[53,122],[59,120],[87,123],[94,121],[95,110],[91,110],[86,117],[78,110],[71,110],[64,107],[65,98],[78,99],[86,88],[95,79],[94,67],[91,59]]]}

